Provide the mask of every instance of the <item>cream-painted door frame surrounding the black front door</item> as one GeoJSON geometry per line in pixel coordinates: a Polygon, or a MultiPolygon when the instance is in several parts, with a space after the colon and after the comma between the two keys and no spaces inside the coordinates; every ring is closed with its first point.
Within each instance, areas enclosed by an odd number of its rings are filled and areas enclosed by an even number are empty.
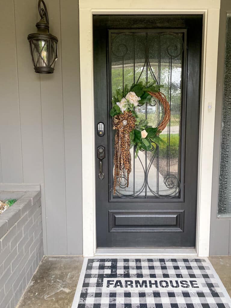
{"type": "MultiPolygon", "coordinates": [[[[220,0],[214,0],[212,2],[211,0],[196,0],[193,3],[185,3],[184,0],[174,0],[171,2],[174,9],[169,9],[168,0],[158,0],[155,2],[155,9],[153,9],[153,2],[151,0],[143,0],[140,3],[134,2],[132,9],[129,8],[130,3],[130,0],[116,1],[115,3],[108,0],[79,0],[83,168],[83,256],[92,257],[96,252],[92,17],[94,14],[202,14],[203,37],[198,150],[196,252],[199,257],[208,257],[220,0]],[[97,9],[95,7],[97,7],[97,9]],[[210,132],[209,135],[208,132],[210,132]]],[[[126,251],[124,251],[124,254],[126,254],[126,251]]],[[[182,249],[182,255],[183,254],[185,254],[185,249],[182,249]]]]}

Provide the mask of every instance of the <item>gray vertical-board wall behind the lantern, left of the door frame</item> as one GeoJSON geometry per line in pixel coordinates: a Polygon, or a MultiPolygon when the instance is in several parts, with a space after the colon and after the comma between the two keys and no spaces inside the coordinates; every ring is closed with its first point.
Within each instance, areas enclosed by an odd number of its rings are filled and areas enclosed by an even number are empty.
{"type": "Polygon", "coordinates": [[[1,3],[0,183],[41,184],[45,255],[82,255],[79,8],[46,1],[54,74],[34,73],[27,35],[38,0],[1,3]]]}

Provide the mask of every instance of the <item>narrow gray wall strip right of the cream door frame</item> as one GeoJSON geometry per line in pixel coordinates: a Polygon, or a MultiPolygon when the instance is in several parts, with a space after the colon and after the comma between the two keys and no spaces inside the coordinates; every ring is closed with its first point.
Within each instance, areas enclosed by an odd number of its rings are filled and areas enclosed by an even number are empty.
{"type": "Polygon", "coordinates": [[[221,140],[221,113],[223,102],[225,39],[226,39],[226,14],[231,12],[230,0],[221,0],[218,62],[217,62],[217,94],[215,133],[213,150],[213,186],[212,186],[212,208],[210,228],[210,255],[231,254],[231,219],[217,218],[219,164],[220,164],[220,140],[221,140]]]}

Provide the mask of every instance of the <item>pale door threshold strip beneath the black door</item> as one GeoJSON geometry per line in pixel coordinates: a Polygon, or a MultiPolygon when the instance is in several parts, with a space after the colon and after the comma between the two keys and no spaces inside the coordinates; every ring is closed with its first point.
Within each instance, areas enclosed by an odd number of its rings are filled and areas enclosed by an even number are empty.
{"type": "Polygon", "coordinates": [[[95,256],[102,255],[120,255],[120,256],[128,256],[128,255],[164,255],[164,256],[197,256],[196,248],[188,248],[188,247],[160,247],[160,248],[146,248],[146,247],[131,247],[131,248],[123,248],[123,247],[101,247],[97,248],[95,252],[95,256]]]}

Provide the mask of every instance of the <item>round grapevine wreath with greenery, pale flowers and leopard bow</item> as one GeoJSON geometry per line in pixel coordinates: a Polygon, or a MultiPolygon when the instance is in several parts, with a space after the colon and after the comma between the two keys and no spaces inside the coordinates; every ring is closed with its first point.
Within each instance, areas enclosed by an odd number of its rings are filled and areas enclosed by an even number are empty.
{"type": "Polygon", "coordinates": [[[160,86],[155,82],[144,84],[143,82],[128,85],[124,90],[117,89],[111,99],[112,109],[110,115],[113,119],[113,129],[115,133],[115,153],[114,153],[114,185],[120,185],[122,177],[126,178],[127,187],[129,185],[129,174],[131,173],[131,153],[130,148],[134,147],[136,157],[139,151],[150,151],[154,144],[160,144],[163,140],[159,134],[164,130],[170,120],[170,106],[166,96],[160,92],[160,86]],[[155,98],[163,105],[164,117],[158,127],[148,125],[147,119],[139,119],[136,107],[142,106],[155,98]]]}

